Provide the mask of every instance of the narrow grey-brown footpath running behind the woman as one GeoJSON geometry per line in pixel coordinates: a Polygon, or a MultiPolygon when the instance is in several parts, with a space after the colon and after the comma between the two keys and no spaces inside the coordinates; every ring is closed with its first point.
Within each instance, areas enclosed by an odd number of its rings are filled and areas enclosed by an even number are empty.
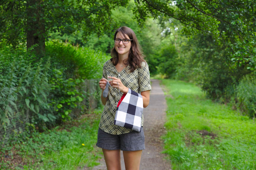
{"type": "MultiPolygon", "coordinates": [[[[142,151],[140,170],[169,170],[170,163],[164,159],[161,154],[163,141],[160,136],[165,132],[165,111],[166,101],[162,88],[158,80],[151,80],[152,90],[150,91],[150,103],[144,108],[143,130],[145,134],[145,147],[142,151]]],[[[123,153],[121,151],[122,169],[125,169],[123,153]]],[[[100,160],[100,165],[95,166],[93,170],[106,170],[104,158],[100,160]]]]}

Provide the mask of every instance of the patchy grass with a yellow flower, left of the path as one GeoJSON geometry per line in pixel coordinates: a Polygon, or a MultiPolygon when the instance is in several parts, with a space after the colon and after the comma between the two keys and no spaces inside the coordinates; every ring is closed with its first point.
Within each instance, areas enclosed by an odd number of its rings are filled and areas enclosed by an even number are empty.
{"type": "Polygon", "coordinates": [[[3,160],[0,169],[71,170],[98,165],[102,151],[95,144],[101,111],[94,110],[44,133],[34,132],[33,136],[6,147],[5,154],[12,158],[3,160]]]}

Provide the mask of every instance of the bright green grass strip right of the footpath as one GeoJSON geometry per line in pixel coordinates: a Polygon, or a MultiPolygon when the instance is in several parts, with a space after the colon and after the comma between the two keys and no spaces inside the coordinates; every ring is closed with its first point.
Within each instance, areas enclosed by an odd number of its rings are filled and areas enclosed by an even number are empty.
{"type": "Polygon", "coordinates": [[[256,169],[255,120],[206,99],[194,84],[162,84],[168,106],[164,153],[173,169],[256,169]]]}

